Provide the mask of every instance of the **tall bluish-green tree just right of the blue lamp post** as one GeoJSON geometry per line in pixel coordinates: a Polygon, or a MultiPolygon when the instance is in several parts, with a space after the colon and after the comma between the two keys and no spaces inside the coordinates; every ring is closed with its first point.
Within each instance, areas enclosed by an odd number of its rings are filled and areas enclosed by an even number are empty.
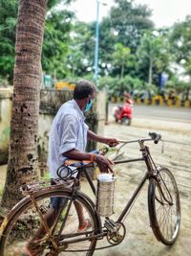
{"type": "MultiPolygon", "coordinates": [[[[100,22],[99,68],[102,75],[108,73],[116,76],[120,73],[120,70],[113,69],[112,64],[117,43],[136,54],[141,36],[154,26],[150,19],[151,11],[145,5],[136,5],[135,1],[126,0],[116,0],[115,4],[108,16],[100,22]],[[102,63],[105,63],[104,67],[102,63]]],[[[134,68],[130,68],[129,72],[134,75],[134,68]]]]}

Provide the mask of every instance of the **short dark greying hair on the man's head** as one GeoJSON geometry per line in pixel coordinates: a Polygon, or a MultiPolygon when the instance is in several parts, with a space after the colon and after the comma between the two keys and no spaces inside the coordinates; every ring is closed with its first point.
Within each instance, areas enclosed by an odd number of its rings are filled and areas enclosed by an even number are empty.
{"type": "Polygon", "coordinates": [[[96,91],[95,84],[92,81],[81,80],[77,81],[74,87],[74,100],[82,100],[88,98],[96,91]]]}

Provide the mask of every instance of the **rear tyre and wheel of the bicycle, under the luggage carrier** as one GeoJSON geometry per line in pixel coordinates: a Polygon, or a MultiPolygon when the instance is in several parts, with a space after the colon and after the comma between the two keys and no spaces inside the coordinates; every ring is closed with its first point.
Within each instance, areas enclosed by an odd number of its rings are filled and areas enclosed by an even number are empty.
{"type": "MultiPolygon", "coordinates": [[[[64,198],[68,200],[67,206],[64,208],[64,212],[57,221],[56,227],[54,228],[54,238],[57,236],[58,229],[61,226],[61,222],[66,216],[67,208],[70,205],[71,201],[71,190],[52,190],[50,192],[41,192],[39,195],[34,196],[35,201],[40,207],[40,211],[42,214],[46,214],[50,209],[50,200],[51,198],[64,198]],[[62,219],[62,220],[61,220],[62,219]]],[[[41,248],[43,251],[39,254],[35,255],[88,255],[91,256],[94,254],[96,247],[96,238],[94,235],[98,232],[99,229],[99,221],[95,212],[95,205],[93,201],[88,198],[85,194],[81,192],[77,192],[74,201],[78,201],[83,205],[84,215],[86,218],[91,220],[92,226],[87,229],[86,232],[77,232],[78,228],[78,218],[76,214],[76,210],[74,209],[74,202],[72,203],[72,207],[70,212],[67,215],[67,220],[64,226],[64,229],[61,234],[64,240],[59,240],[57,244],[60,244],[64,241],[65,249],[62,252],[58,251],[54,254],[49,254],[51,250],[53,250],[53,244],[48,241],[45,234],[41,239],[41,248]],[[74,233],[73,233],[74,232],[74,233]],[[74,235],[75,234],[75,235],[74,235]],[[77,234],[77,235],[76,235],[77,234]],[[70,235],[70,236],[69,236],[70,235]],[[74,236],[74,237],[73,237],[74,236]],[[85,238],[89,236],[89,240],[81,241],[80,243],[73,243],[74,240],[85,238]],[[74,239],[74,240],[73,240],[74,239]],[[42,246],[43,244],[43,246],[42,246]],[[81,251],[80,251],[81,250],[81,251]],[[78,251],[78,252],[77,252],[78,251]],[[85,254],[86,251],[86,254],[85,254]]],[[[34,206],[32,205],[32,200],[28,196],[27,198],[22,199],[16,207],[14,207],[8,216],[8,221],[4,222],[4,229],[1,235],[0,240],[0,255],[1,256],[13,256],[13,255],[22,255],[23,247],[27,244],[29,240],[31,240],[36,232],[39,229],[39,214],[37,214],[34,206]],[[7,222],[7,223],[6,223],[7,222]],[[21,251],[20,251],[21,250],[21,251]],[[18,251],[18,252],[17,252],[18,251]],[[17,253],[17,254],[16,254],[17,253]],[[19,254],[20,253],[20,254],[19,254]]]]}

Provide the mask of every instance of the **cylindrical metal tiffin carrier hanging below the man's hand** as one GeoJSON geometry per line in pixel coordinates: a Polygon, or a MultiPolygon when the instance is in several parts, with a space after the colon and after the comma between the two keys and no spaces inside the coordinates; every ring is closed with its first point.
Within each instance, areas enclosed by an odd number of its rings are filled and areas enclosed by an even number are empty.
{"type": "Polygon", "coordinates": [[[97,176],[96,211],[102,217],[114,214],[115,181],[116,177],[112,174],[97,176]]]}

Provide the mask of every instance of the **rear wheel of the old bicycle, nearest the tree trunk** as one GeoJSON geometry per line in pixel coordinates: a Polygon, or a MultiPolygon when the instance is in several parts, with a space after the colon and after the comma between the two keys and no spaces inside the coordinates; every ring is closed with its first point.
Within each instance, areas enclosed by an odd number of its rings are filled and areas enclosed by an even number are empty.
{"type": "Polygon", "coordinates": [[[98,221],[94,205],[86,196],[77,193],[72,198],[70,191],[57,190],[41,193],[34,199],[35,206],[30,197],[24,198],[12,210],[14,213],[9,215],[0,240],[1,256],[23,255],[29,242],[30,246],[34,242],[32,255],[93,255],[98,221]],[[57,203],[59,211],[53,214],[53,207],[57,203]],[[83,232],[79,230],[75,204],[83,207],[83,215],[89,221],[89,227],[83,232]],[[42,218],[49,232],[45,231],[42,218]]]}

